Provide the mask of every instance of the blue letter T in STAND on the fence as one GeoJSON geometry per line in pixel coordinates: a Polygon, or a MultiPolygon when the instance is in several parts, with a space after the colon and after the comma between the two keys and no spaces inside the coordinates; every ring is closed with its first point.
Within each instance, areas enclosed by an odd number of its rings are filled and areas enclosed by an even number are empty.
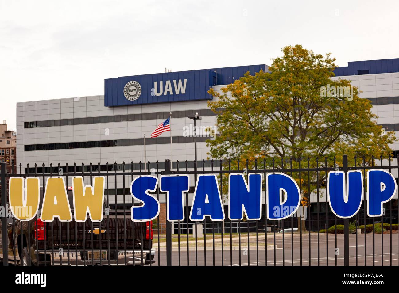
{"type": "Polygon", "coordinates": [[[188,175],[161,175],[159,189],[166,193],[166,218],[168,221],[184,220],[184,193],[190,189],[188,175]]]}

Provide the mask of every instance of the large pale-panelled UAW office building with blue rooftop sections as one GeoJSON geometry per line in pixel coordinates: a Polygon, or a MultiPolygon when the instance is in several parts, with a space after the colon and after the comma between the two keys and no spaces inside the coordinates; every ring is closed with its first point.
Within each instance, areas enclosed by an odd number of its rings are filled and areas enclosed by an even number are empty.
{"type": "MultiPolygon", "coordinates": [[[[188,160],[188,167],[193,168],[194,137],[190,135],[193,120],[188,116],[197,112],[202,116],[197,120],[199,129],[214,127],[216,116],[207,107],[207,102],[216,97],[208,94],[209,88],[220,91],[247,71],[255,75],[260,70],[267,71],[268,66],[260,64],[117,77],[105,79],[102,95],[17,103],[17,170],[19,172],[21,163],[23,173],[34,173],[34,164],[37,163],[38,173],[52,171],[57,174],[59,163],[61,166],[68,164],[70,173],[76,163],[77,172],[88,172],[89,164],[93,163],[95,173],[98,172],[98,163],[101,171],[105,171],[108,162],[109,171],[115,172],[115,169],[122,171],[122,162],[125,162],[125,170],[130,171],[133,162],[133,169],[137,171],[140,168],[138,163],[144,160],[151,162],[148,170],[156,168],[156,160],[162,170],[167,158],[172,159],[174,169],[177,160],[182,163],[188,160]],[[171,132],[150,138],[154,129],[170,115],[171,132]],[[43,163],[45,170],[41,169],[43,163]],[[50,163],[53,165],[51,170],[50,163]]],[[[337,67],[334,73],[334,79],[350,79],[353,86],[359,87],[362,91],[359,96],[371,100],[373,112],[379,117],[377,123],[399,135],[399,59],[349,62],[347,67],[337,67]]],[[[205,160],[205,170],[210,170],[207,139],[209,135],[206,134],[197,137],[197,158],[201,161],[201,169],[202,160],[205,160]]],[[[396,155],[399,145],[391,147],[396,155]]],[[[218,158],[214,159],[213,166],[219,169],[218,158]]],[[[184,164],[180,166],[184,167],[184,164]]],[[[395,171],[392,173],[397,177],[395,171]]],[[[88,180],[85,178],[85,183],[89,184],[88,180]]],[[[126,203],[131,203],[130,181],[131,178],[126,176],[123,189],[122,176],[117,176],[117,182],[113,176],[109,177],[111,207],[115,202],[119,207],[123,194],[126,194],[126,199],[129,197],[126,203]]],[[[194,192],[194,177],[191,177],[190,186],[189,204],[194,192]]],[[[161,206],[164,203],[162,196],[161,206]]],[[[397,195],[395,199],[393,205],[397,206],[397,195]]],[[[311,201],[317,201],[316,196],[312,196],[311,201]]],[[[325,204],[326,197],[320,197],[319,201],[325,204]]],[[[227,205],[227,201],[224,204],[227,205]]]]}

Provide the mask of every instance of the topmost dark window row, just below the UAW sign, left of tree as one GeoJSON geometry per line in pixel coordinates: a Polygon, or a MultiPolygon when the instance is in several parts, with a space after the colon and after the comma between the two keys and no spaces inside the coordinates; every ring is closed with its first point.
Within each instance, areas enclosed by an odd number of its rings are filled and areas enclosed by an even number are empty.
{"type": "MultiPolygon", "coordinates": [[[[201,116],[215,116],[211,109],[202,110],[184,110],[172,113],[172,118],[187,118],[190,114],[198,112],[201,116]]],[[[110,123],[110,122],[124,122],[124,121],[141,121],[141,120],[154,120],[166,119],[169,117],[170,112],[154,112],[154,113],[140,113],[140,114],[126,114],[126,115],[113,115],[113,116],[99,116],[99,117],[85,117],[85,118],[70,118],[70,119],[57,119],[57,120],[43,120],[25,122],[25,128],[35,127],[51,127],[51,126],[65,126],[65,125],[81,125],[81,124],[96,124],[96,123],[110,123]]]]}

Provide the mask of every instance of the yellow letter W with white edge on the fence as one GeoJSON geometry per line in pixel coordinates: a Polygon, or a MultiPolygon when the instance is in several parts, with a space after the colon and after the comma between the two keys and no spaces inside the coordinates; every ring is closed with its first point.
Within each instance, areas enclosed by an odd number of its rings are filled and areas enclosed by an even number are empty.
{"type": "Polygon", "coordinates": [[[83,177],[72,178],[73,212],[76,222],[85,222],[87,212],[93,222],[103,220],[104,187],[104,176],[95,176],[93,186],[85,187],[83,187],[83,177]]]}

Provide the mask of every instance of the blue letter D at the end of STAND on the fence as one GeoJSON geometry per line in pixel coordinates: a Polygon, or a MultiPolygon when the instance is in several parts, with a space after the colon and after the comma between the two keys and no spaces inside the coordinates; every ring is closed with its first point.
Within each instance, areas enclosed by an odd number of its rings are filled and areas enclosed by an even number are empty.
{"type": "Polygon", "coordinates": [[[266,175],[266,202],[269,220],[288,218],[299,207],[300,191],[298,184],[286,174],[268,173],[266,175]]]}

